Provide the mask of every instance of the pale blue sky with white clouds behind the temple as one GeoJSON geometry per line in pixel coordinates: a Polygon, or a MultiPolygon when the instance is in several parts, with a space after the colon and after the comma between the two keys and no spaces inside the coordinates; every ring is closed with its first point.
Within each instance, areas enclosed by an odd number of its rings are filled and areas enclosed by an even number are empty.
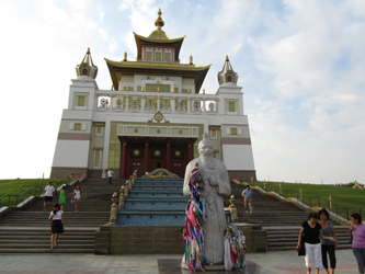
{"type": "Polygon", "coordinates": [[[258,180],[365,183],[365,1],[363,0],[2,0],[0,179],[49,176],[69,85],[88,47],[100,89],[104,58],[136,57],[161,8],[180,59],[226,55],[239,73],[258,180]]]}

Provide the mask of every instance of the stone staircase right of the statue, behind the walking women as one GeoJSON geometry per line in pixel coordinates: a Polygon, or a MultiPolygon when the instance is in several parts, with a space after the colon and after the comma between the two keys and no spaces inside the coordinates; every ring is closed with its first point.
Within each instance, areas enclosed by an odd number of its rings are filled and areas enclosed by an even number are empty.
{"type": "MultiPolygon", "coordinates": [[[[252,190],[253,214],[247,214],[241,195],[246,186],[232,182],[231,187],[236,197],[238,222],[261,226],[263,230],[266,230],[267,251],[296,250],[301,224],[307,219],[309,212],[304,212],[290,203],[252,190]]],[[[228,198],[225,202],[229,202],[228,198]]],[[[349,227],[334,222],[339,249],[351,248],[347,230],[349,227]]]]}

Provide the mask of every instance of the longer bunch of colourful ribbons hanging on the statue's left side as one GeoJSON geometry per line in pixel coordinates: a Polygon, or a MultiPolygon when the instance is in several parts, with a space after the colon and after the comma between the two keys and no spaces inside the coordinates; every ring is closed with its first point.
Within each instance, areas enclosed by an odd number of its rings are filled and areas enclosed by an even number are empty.
{"type": "Polygon", "coordinates": [[[184,262],[192,271],[204,271],[204,235],[202,222],[205,220],[203,190],[204,182],[198,170],[194,169],[189,181],[191,199],[185,208],[183,232],[184,262]]]}

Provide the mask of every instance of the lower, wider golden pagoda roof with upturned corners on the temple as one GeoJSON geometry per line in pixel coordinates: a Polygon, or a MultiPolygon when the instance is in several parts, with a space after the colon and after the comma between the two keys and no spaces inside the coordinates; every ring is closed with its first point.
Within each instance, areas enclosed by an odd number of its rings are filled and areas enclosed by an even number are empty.
{"type": "Polygon", "coordinates": [[[119,90],[118,79],[122,75],[152,75],[152,76],[175,76],[195,79],[195,92],[198,93],[206,73],[212,64],[206,66],[195,66],[176,62],[155,62],[155,61],[113,61],[104,58],[111,73],[115,90],[119,90]]]}

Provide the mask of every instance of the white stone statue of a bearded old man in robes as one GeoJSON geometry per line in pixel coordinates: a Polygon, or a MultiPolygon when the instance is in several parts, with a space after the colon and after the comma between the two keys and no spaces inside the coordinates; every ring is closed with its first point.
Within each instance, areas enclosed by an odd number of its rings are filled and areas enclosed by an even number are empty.
{"type": "Polygon", "coordinates": [[[203,193],[206,213],[206,221],[203,222],[205,258],[207,263],[224,264],[224,236],[227,221],[223,196],[229,196],[231,189],[226,165],[213,157],[213,144],[208,135],[204,134],[203,140],[198,144],[199,157],[186,165],[183,193],[185,196],[191,195],[189,180],[195,163],[198,163],[205,183],[203,193]]]}

